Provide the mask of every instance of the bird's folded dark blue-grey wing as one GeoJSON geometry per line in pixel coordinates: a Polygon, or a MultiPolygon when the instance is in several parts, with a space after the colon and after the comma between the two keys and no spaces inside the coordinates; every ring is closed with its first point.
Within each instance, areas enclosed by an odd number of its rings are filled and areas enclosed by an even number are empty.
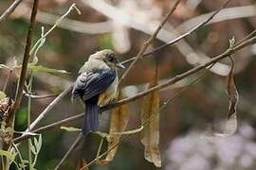
{"type": "Polygon", "coordinates": [[[117,73],[110,69],[82,73],[76,80],[72,94],[81,96],[84,101],[88,100],[106,91],[116,77],[117,73]]]}

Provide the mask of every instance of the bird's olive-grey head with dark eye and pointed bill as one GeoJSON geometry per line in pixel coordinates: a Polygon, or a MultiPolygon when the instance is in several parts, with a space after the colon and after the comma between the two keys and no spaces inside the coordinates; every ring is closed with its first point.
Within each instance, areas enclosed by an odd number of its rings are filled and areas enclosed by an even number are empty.
{"type": "Polygon", "coordinates": [[[117,70],[118,68],[125,68],[117,58],[114,51],[105,49],[96,52],[95,54],[90,56],[90,59],[100,59],[105,62],[111,69],[117,70]]]}

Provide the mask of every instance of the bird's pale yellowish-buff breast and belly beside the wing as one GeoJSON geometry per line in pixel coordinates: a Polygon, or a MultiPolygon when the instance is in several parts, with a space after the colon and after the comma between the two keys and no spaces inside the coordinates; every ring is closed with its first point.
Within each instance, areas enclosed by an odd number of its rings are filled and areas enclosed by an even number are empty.
{"type": "Polygon", "coordinates": [[[116,97],[118,92],[119,77],[117,76],[113,83],[107,88],[104,93],[101,93],[98,100],[98,106],[102,107],[107,105],[111,100],[116,97]]]}

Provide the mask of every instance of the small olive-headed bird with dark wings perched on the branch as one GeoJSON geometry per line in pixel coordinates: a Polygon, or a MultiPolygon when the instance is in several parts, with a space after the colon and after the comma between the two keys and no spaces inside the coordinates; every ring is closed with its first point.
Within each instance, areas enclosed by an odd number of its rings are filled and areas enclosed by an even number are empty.
{"type": "Polygon", "coordinates": [[[100,107],[116,98],[119,86],[118,69],[125,67],[114,51],[105,49],[92,54],[82,65],[72,90],[72,100],[77,97],[84,103],[82,135],[99,128],[100,107]]]}

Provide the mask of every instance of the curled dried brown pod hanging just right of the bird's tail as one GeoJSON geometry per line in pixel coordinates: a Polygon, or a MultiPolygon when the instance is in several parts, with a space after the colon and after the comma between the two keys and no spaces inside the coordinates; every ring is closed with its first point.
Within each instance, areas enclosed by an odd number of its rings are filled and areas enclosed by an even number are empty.
{"type": "MultiPolygon", "coordinates": [[[[124,98],[124,93],[120,92],[119,99],[124,98]]],[[[125,130],[129,121],[129,113],[127,105],[119,106],[118,108],[112,110],[111,122],[109,129],[109,136],[107,138],[108,149],[119,143],[121,137],[120,134],[113,134],[117,132],[122,132],[125,130]]],[[[118,146],[108,152],[105,160],[98,161],[98,164],[105,165],[110,161],[114,160],[114,157],[118,151],[118,146]]]]}

